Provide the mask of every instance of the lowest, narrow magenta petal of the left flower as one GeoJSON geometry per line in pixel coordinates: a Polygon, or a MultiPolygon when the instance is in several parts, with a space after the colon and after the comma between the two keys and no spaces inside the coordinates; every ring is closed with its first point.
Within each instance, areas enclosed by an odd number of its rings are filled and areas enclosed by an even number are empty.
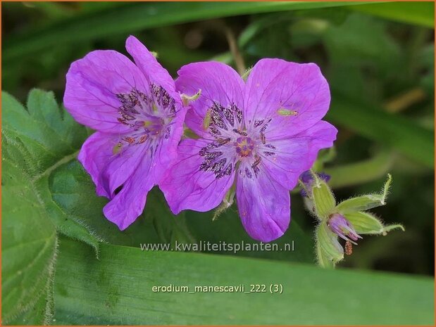
{"type": "Polygon", "coordinates": [[[154,186],[151,159],[145,155],[132,176],[125,181],[121,191],[103,208],[106,218],[120,230],[126,229],[142,214],[147,193],[154,186]]]}

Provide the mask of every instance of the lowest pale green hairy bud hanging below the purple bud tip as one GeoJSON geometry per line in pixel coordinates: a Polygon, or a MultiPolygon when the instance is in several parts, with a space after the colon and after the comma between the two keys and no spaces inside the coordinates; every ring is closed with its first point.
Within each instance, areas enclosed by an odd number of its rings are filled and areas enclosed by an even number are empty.
{"type": "Polygon", "coordinates": [[[321,222],[316,227],[315,238],[318,264],[321,267],[334,267],[344,259],[344,249],[337,241],[337,235],[328,228],[327,222],[321,222]]]}

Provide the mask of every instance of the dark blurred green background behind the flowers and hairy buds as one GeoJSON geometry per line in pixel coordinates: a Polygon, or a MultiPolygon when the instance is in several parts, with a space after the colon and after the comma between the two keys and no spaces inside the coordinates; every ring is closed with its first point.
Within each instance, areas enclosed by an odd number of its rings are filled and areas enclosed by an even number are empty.
{"type": "MultiPolygon", "coordinates": [[[[392,172],[388,205],[375,212],[386,224],[406,227],[405,233],[364,238],[341,265],[434,274],[434,5],[295,6],[6,2],[2,87],[22,102],[34,87],[53,90],[61,101],[73,60],[94,49],[125,53],[129,34],[156,51],[174,77],[192,61],[236,67],[232,41],[246,67],[265,57],[317,63],[332,89],[327,119],[340,131],[337,154],[325,167],[337,198],[375,191],[392,172]]],[[[235,240],[240,238],[235,214],[213,226],[204,216],[190,215],[194,233],[230,224],[238,231],[235,240]]],[[[311,234],[315,225],[298,194],[292,195],[292,217],[311,234]]]]}

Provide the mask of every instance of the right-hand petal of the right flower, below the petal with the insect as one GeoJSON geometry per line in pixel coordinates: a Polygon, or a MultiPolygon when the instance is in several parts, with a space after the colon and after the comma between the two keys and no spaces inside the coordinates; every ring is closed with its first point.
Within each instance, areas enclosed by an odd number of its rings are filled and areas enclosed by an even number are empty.
{"type": "Polygon", "coordinates": [[[337,129],[332,124],[321,120],[289,139],[270,141],[273,149],[266,148],[261,153],[263,169],[291,190],[297,185],[300,174],[312,167],[318,151],[333,145],[336,134],[337,129]]]}

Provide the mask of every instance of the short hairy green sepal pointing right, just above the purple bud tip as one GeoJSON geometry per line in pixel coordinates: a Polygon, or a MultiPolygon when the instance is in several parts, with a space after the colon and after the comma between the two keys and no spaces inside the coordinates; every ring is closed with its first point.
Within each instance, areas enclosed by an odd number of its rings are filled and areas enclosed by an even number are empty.
{"type": "Polygon", "coordinates": [[[351,222],[354,230],[358,234],[383,234],[386,235],[388,231],[392,229],[401,229],[404,231],[404,227],[400,224],[384,226],[380,219],[368,212],[349,212],[344,214],[345,218],[351,222]]]}

